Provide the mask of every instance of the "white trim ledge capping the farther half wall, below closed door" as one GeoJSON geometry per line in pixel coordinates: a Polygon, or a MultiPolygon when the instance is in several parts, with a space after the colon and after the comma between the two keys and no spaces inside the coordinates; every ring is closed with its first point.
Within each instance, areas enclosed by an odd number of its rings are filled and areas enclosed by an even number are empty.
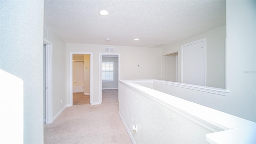
{"type": "Polygon", "coordinates": [[[199,86],[194,84],[184,84],[180,82],[170,82],[170,81],[164,81],[164,80],[126,80],[128,82],[157,82],[160,84],[167,84],[170,86],[177,86],[180,88],[188,88],[191,90],[197,90],[201,92],[208,92],[211,94],[218,94],[222,96],[228,96],[230,93],[229,90],[223,89],[223,88],[214,88],[214,87],[208,87],[208,86],[199,86]]]}

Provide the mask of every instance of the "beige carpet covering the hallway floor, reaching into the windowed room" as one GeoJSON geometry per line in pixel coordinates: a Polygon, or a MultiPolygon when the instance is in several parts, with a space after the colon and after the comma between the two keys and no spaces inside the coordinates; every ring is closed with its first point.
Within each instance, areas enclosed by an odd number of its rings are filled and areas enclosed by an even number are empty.
{"type": "Polygon", "coordinates": [[[104,98],[102,92],[102,104],[67,107],[52,124],[44,124],[44,143],[131,144],[132,141],[118,114],[116,96],[104,98]]]}

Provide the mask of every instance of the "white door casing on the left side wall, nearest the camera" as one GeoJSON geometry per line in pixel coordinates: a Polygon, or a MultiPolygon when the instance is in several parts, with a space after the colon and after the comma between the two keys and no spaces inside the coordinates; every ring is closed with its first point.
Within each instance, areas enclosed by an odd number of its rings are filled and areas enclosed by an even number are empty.
{"type": "Polygon", "coordinates": [[[44,38],[45,44],[45,64],[46,64],[46,124],[53,122],[52,120],[52,42],[44,38]]]}

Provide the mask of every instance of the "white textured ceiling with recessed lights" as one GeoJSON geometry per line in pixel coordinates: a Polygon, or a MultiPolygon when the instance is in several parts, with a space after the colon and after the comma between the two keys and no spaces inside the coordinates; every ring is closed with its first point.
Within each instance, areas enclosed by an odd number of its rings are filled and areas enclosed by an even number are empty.
{"type": "Polygon", "coordinates": [[[153,47],[226,25],[226,1],[45,0],[44,24],[68,43],[153,47]]]}

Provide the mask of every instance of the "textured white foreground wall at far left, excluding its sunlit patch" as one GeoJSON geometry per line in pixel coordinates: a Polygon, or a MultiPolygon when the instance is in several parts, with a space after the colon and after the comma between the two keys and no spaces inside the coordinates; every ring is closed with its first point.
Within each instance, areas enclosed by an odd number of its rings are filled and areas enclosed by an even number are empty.
{"type": "MultiPolygon", "coordinates": [[[[0,5],[1,69],[22,79],[24,86],[23,143],[44,143],[44,1],[1,1],[0,5]]],[[[2,91],[1,89],[2,87],[0,87],[0,91],[2,91]]],[[[15,97],[8,99],[16,100],[13,98],[15,97]]],[[[18,106],[14,107],[19,109],[18,106]]],[[[3,110],[8,111],[8,108],[3,110]]],[[[16,114],[10,113],[10,115],[16,114]]],[[[22,121],[20,117],[17,117],[16,120],[22,121]]],[[[12,124],[12,121],[9,122],[12,124]]],[[[12,136],[13,139],[20,137],[15,134],[12,136]]]]}

